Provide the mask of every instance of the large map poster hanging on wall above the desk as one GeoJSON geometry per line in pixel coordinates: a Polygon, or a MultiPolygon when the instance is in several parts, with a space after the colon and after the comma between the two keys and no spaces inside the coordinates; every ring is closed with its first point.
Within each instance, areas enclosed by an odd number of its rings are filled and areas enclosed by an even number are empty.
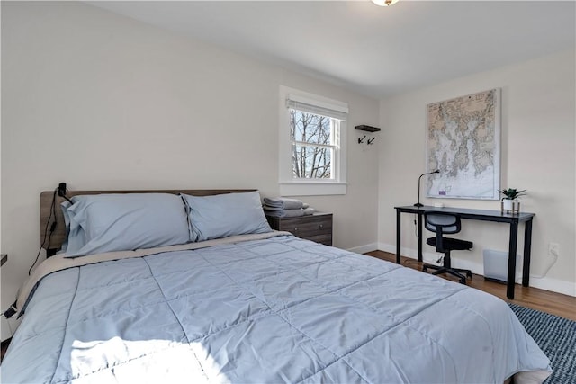
{"type": "Polygon", "coordinates": [[[500,88],[428,104],[427,196],[500,199],[500,88]]]}

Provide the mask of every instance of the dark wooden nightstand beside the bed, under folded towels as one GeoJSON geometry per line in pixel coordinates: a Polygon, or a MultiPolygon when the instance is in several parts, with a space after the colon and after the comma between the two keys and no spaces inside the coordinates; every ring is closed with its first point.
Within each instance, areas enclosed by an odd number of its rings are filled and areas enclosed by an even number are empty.
{"type": "Polygon", "coordinates": [[[276,218],[266,216],[270,227],[284,230],[294,236],[332,246],[332,214],[316,212],[297,218],[276,218]]]}

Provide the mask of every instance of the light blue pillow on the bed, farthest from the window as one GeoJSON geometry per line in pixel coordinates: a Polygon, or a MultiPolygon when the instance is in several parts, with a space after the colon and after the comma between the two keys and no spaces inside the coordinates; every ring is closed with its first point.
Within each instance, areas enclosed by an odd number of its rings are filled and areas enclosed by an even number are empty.
{"type": "Polygon", "coordinates": [[[64,257],[190,241],[186,208],[169,193],[112,193],[72,198],[63,206],[69,223],[64,257]]]}

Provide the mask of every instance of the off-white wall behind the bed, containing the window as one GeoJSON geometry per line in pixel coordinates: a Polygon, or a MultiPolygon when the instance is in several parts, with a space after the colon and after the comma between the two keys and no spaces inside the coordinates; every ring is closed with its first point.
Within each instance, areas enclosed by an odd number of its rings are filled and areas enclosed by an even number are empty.
{"type": "Polygon", "coordinates": [[[280,85],[349,104],[347,195],[303,199],[334,213],[335,246],[376,247],[377,146],[354,126],[377,100],[76,2],[2,3],[2,80],[2,308],[58,182],[276,196],[280,85]]]}

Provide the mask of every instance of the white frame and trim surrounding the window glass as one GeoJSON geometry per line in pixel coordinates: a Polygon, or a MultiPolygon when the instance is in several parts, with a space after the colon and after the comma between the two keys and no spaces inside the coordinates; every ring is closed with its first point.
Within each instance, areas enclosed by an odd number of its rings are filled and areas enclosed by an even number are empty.
{"type": "Polygon", "coordinates": [[[340,121],[334,132],[334,158],[330,179],[297,179],[293,177],[293,139],[290,136],[290,108],[287,101],[313,105],[322,109],[348,113],[347,103],[317,94],[280,86],[279,99],[279,186],[282,196],[312,196],[347,193],[347,119],[340,121]]]}

